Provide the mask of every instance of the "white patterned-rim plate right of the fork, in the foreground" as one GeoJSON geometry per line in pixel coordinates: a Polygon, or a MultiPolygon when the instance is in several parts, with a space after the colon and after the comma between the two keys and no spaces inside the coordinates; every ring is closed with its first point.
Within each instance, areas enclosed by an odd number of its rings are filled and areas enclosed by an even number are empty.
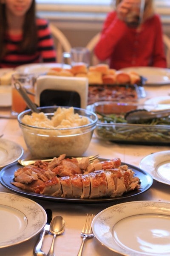
{"type": "Polygon", "coordinates": [[[99,212],[92,222],[96,239],[125,256],[170,256],[170,203],[133,201],[99,212]]]}

